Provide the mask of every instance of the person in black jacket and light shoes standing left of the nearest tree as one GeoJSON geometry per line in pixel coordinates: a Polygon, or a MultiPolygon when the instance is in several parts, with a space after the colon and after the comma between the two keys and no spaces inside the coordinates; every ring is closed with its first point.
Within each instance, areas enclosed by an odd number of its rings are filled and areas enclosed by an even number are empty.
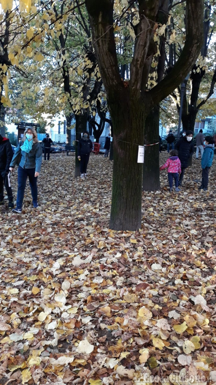
{"type": "Polygon", "coordinates": [[[78,144],[78,159],[80,160],[81,178],[86,178],[86,171],[89,161],[90,152],[92,150],[92,141],[89,139],[88,131],[83,132],[83,137],[78,144]]]}

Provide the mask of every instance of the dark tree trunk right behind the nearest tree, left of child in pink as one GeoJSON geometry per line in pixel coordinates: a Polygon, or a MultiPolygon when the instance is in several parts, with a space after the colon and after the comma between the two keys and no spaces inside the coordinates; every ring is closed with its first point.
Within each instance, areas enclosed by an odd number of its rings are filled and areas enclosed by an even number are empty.
{"type": "MultiPolygon", "coordinates": [[[[159,142],[160,107],[156,105],[148,114],[145,121],[145,144],[159,142]]],[[[145,146],[143,164],[143,191],[160,189],[159,144],[145,146]]]]}

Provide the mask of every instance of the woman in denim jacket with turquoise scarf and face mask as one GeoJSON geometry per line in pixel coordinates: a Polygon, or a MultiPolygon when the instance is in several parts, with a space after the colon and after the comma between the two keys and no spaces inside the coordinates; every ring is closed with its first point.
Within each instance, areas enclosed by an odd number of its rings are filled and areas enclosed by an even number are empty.
{"type": "Polygon", "coordinates": [[[32,127],[25,129],[23,139],[18,144],[10,163],[10,171],[13,172],[19,159],[17,207],[12,210],[13,213],[22,213],[27,178],[32,191],[33,207],[35,209],[38,207],[37,177],[42,165],[42,147],[38,142],[37,132],[32,127]]]}

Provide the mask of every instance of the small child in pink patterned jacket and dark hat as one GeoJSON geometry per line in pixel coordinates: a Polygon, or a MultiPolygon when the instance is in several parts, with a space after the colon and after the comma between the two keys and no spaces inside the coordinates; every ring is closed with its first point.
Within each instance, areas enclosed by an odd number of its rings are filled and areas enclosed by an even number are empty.
{"type": "Polygon", "coordinates": [[[175,180],[175,191],[178,192],[180,189],[178,188],[178,179],[179,174],[181,174],[181,162],[178,158],[178,151],[172,150],[170,151],[170,157],[167,159],[166,163],[160,167],[160,171],[168,168],[168,181],[169,181],[169,191],[173,191],[173,178],[175,180]]]}

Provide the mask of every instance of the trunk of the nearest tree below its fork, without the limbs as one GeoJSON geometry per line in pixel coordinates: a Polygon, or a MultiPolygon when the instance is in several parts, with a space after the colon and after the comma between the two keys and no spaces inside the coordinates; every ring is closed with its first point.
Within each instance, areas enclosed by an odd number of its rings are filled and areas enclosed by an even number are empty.
{"type": "Polygon", "coordinates": [[[135,231],[141,228],[142,169],[137,163],[143,144],[145,112],[133,98],[112,109],[114,137],[113,191],[110,228],[135,231]],[[136,132],[136,136],[134,135],[136,132]]]}

